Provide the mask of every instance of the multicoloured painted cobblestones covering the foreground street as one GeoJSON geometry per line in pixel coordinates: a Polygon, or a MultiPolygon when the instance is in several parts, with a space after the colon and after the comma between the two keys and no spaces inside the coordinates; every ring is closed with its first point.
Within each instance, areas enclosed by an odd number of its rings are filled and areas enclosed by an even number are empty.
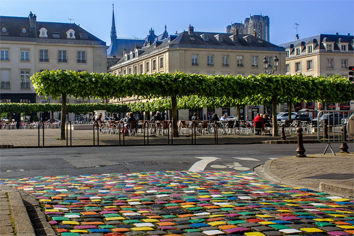
{"type": "Polygon", "coordinates": [[[353,200],[252,172],[144,172],[0,179],[27,191],[59,235],[352,235],[353,200]]]}

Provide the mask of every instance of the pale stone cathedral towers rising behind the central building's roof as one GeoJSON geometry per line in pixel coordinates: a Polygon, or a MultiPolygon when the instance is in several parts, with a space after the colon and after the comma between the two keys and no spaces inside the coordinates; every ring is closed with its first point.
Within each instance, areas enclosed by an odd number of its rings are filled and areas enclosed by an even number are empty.
{"type": "Polygon", "coordinates": [[[236,29],[240,34],[251,34],[265,41],[270,41],[269,38],[269,16],[249,15],[244,23],[231,23],[226,27],[227,33],[235,33],[236,29]]]}

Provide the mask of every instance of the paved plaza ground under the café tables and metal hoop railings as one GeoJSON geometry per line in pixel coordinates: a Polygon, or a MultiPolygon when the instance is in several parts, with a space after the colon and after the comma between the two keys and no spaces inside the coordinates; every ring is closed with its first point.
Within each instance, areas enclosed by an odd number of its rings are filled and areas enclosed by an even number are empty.
{"type": "MultiPolygon", "coordinates": [[[[59,129],[45,129],[45,146],[66,146],[66,140],[58,140],[59,129]]],[[[96,145],[97,145],[97,132],[96,145]]],[[[248,144],[264,140],[279,140],[280,137],[269,135],[218,135],[218,144],[248,144]]],[[[296,134],[288,134],[288,140],[296,140],[296,134]]],[[[317,139],[315,134],[304,134],[304,139],[317,139]]],[[[119,135],[102,133],[99,135],[100,145],[119,145],[119,135]]],[[[171,141],[171,140],[170,140],[171,141]]],[[[37,129],[3,129],[0,134],[1,145],[13,145],[14,147],[37,147],[38,130],[37,129]]],[[[147,144],[147,138],[146,138],[147,144]]],[[[167,145],[167,136],[150,136],[150,145],[167,145]]],[[[173,144],[191,144],[191,136],[181,136],[173,138],[173,144]]],[[[215,144],[214,135],[197,135],[196,144],[215,144]]],[[[42,130],[40,130],[40,146],[42,145],[42,130]]],[[[69,143],[70,145],[70,143],[69,143]]],[[[93,145],[93,130],[72,130],[73,146],[91,146],[93,145]]],[[[121,145],[123,145],[123,136],[121,136],[121,145]]],[[[143,134],[138,136],[125,136],[125,145],[144,145],[143,134]]]]}

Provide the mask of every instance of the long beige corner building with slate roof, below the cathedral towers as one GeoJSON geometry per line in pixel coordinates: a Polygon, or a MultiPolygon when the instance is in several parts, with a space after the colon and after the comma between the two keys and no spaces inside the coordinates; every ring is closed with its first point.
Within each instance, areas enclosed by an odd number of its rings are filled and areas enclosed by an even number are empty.
{"type": "MultiPolygon", "coordinates": [[[[180,71],[205,75],[258,75],[264,72],[263,58],[267,57],[269,67],[274,68],[273,59],[279,59],[276,73],[285,73],[285,50],[248,34],[188,31],[169,35],[167,38],[136,47],[124,52],[123,58],[108,70],[112,74],[163,73],[180,71]]],[[[135,103],[145,100],[132,97],[111,100],[112,103],[135,103]]],[[[262,108],[250,108],[248,118],[262,108]],[[252,113],[252,114],[251,114],[252,113]]],[[[193,111],[192,111],[193,112],[193,111]]],[[[226,108],[216,111],[219,115],[236,115],[236,109],[226,108]]],[[[207,111],[200,112],[204,119],[207,111]]],[[[245,112],[244,112],[245,113],[245,112]]],[[[180,111],[181,119],[189,119],[188,111],[180,111]]],[[[244,114],[247,116],[247,114],[244,114]]],[[[246,118],[246,117],[245,117],[246,118]]]]}

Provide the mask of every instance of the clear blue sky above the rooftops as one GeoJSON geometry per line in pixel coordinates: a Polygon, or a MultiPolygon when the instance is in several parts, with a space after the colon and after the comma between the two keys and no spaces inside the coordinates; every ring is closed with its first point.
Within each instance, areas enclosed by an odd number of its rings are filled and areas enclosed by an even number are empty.
{"type": "Polygon", "coordinates": [[[110,44],[114,4],[118,37],[144,38],[149,29],[161,34],[188,30],[226,32],[231,22],[249,15],[270,17],[270,38],[275,44],[295,39],[295,23],[300,38],[319,33],[354,34],[354,1],[116,1],[116,0],[0,0],[0,15],[28,17],[37,21],[75,22],[110,44]]]}

